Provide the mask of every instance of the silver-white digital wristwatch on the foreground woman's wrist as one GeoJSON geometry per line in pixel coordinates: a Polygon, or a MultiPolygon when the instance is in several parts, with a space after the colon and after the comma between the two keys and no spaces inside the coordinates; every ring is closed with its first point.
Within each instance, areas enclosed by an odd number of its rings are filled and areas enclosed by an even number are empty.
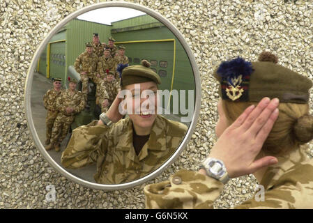
{"type": "Polygon", "coordinates": [[[201,162],[200,169],[205,169],[208,176],[211,176],[216,180],[220,180],[224,184],[229,180],[226,167],[222,160],[207,157],[203,162],[201,162]]]}

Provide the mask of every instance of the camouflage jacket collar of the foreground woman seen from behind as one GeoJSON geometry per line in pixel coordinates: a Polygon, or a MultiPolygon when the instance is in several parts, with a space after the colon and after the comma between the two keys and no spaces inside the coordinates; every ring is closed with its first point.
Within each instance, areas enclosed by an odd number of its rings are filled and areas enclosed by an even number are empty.
{"type": "Polygon", "coordinates": [[[300,148],[296,148],[294,151],[291,151],[291,153],[277,157],[278,163],[266,169],[260,184],[263,185],[266,190],[270,189],[286,171],[291,169],[291,167],[307,160],[305,148],[307,148],[307,145],[300,146],[300,148]]]}

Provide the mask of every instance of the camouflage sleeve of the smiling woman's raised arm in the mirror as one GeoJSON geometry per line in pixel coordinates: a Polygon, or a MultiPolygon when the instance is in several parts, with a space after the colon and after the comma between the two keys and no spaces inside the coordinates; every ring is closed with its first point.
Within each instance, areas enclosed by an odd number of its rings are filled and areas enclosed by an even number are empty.
{"type": "Polygon", "coordinates": [[[72,131],[72,137],[66,150],[61,155],[63,167],[76,169],[96,162],[107,148],[107,131],[105,125],[96,125],[98,120],[82,125],[72,131]]]}

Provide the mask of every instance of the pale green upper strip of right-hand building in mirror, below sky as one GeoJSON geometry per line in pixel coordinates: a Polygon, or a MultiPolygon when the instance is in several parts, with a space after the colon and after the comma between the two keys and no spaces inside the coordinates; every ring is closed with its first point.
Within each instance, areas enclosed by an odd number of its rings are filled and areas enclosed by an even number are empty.
{"type": "Polygon", "coordinates": [[[125,28],[129,26],[139,26],[142,24],[148,24],[153,22],[159,22],[158,20],[155,20],[155,18],[151,17],[150,15],[139,15],[137,17],[132,17],[127,20],[121,20],[118,22],[112,22],[112,29],[120,29],[125,28]]]}

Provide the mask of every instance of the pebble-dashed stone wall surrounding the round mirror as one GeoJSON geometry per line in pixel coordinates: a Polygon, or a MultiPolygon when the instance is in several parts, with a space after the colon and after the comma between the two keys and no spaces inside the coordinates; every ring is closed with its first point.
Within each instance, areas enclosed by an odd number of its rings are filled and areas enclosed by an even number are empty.
{"type": "MultiPolygon", "coordinates": [[[[36,47],[63,17],[94,2],[0,0],[0,208],[144,208],[144,185],[103,192],[61,176],[40,155],[26,126],[24,82],[36,47]],[[48,185],[55,186],[56,201],[45,201],[48,185]]],[[[183,33],[201,74],[201,112],[189,146],[148,183],[165,180],[181,168],[195,170],[209,153],[216,140],[218,99],[210,75],[220,61],[238,55],[257,60],[267,49],[282,66],[313,79],[312,1],[131,2],[158,11],[183,33]]],[[[253,176],[229,181],[215,208],[249,199],[255,185],[253,176]]]]}

